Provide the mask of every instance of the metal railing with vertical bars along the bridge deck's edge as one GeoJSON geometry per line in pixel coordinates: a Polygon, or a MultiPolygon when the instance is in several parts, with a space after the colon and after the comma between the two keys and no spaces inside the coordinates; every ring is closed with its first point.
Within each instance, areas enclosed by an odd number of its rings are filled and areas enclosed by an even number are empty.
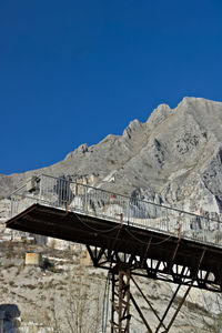
{"type": "Polygon", "coordinates": [[[30,179],[11,195],[11,215],[33,203],[222,246],[222,223],[178,209],[138,200],[51,175],[30,179]]]}

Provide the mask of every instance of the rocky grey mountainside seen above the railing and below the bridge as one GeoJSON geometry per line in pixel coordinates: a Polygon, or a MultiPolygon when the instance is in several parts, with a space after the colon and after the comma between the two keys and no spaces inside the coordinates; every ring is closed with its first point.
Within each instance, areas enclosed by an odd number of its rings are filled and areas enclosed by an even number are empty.
{"type": "MultiPolygon", "coordinates": [[[[49,168],[0,175],[0,222],[9,216],[10,201],[6,198],[10,192],[31,175],[41,173],[67,176],[97,188],[222,219],[221,124],[221,102],[184,98],[175,109],[161,104],[147,122],[134,120],[122,135],[108,135],[91,147],[84,143],[63,161],[49,168]]],[[[7,230],[4,232],[8,233],[7,230]]],[[[100,290],[102,293],[98,304],[103,302],[103,273],[99,269],[82,269],[79,265],[82,250],[77,250],[77,244],[69,243],[68,248],[62,248],[62,244],[60,251],[52,239],[47,246],[0,242],[0,293],[2,302],[17,302],[22,314],[22,332],[39,332],[37,327],[41,327],[43,333],[52,327],[58,331],[58,324],[62,327],[61,332],[70,332],[67,316],[70,311],[67,306],[71,304],[70,285],[73,287],[72,296],[83,294],[85,287],[100,290]],[[49,265],[44,271],[26,266],[26,253],[33,250],[43,253],[46,260],[50,258],[52,266],[49,265]],[[74,264],[73,260],[77,261],[74,264]],[[81,270],[84,272],[81,273],[81,270]]],[[[163,313],[175,286],[154,280],[140,282],[148,297],[158,302],[158,312],[163,313]]],[[[91,294],[87,294],[87,303],[83,305],[90,302],[89,309],[92,309],[91,294]]],[[[77,296],[77,300],[81,297],[77,296]]],[[[175,303],[180,301],[181,295],[178,295],[175,303]]],[[[145,316],[150,317],[147,303],[143,300],[139,302],[145,316]]],[[[220,293],[193,289],[179,313],[172,333],[221,332],[221,304],[220,293]]],[[[101,305],[98,309],[102,311],[101,305]]],[[[83,321],[89,324],[91,322],[85,313],[83,321]]],[[[95,314],[100,319],[101,313],[95,314]]],[[[74,317],[72,312],[71,316],[74,317]]],[[[144,332],[141,322],[137,319],[133,321],[133,332],[144,332]]]]}

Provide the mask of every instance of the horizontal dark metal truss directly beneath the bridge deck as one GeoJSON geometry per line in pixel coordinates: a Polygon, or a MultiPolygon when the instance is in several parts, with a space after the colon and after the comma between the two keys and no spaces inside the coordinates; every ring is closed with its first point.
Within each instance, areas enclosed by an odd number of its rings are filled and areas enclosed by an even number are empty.
{"type": "Polygon", "coordinates": [[[174,261],[176,249],[172,259],[169,261],[150,259],[144,255],[125,254],[120,253],[119,251],[110,251],[97,246],[92,248],[87,245],[87,249],[95,268],[111,270],[115,265],[124,264],[130,266],[132,275],[182,285],[190,285],[192,283],[192,286],[194,287],[213,292],[222,291],[222,281],[218,281],[218,276],[214,272],[211,272],[210,270],[205,271],[199,266],[196,274],[198,258],[195,259],[194,264],[190,266],[178,264],[174,261]]]}

